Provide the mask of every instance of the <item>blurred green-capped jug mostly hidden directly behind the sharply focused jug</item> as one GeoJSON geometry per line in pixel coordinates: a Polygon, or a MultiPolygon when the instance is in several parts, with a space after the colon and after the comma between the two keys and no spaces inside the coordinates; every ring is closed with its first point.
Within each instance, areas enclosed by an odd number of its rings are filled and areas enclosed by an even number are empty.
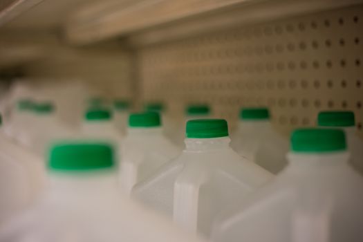
{"type": "Polygon", "coordinates": [[[178,125],[178,129],[174,131],[173,142],[178,147],[184,148],[185,124],[188,120],[210,118],[210,107],[203,104],[192,104],[185,109],[185,118],[178,125]]]}

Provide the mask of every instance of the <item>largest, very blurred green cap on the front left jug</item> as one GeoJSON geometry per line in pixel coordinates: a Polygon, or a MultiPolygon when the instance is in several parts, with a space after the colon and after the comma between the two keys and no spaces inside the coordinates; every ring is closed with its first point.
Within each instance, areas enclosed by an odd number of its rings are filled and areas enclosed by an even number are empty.
{"type": "Polygon", "coordinates": [[[113,149],[102,143],[63,143],[50,149],[48,168],[60,171],[89,171],[113,167],[113,149]]]}

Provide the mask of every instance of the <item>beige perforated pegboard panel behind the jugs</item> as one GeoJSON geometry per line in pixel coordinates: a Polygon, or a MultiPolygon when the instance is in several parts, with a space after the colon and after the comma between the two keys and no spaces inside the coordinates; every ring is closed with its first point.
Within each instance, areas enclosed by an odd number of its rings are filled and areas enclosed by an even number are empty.
{"type": "Polygon", "coordinates": [[[283,133],[312,126],[320,110],[355,111],[363,122],[363,6],[145,46],[138,50],[142,97],[211,104],[233,127],[241,106],[269,106],[283,133]]]}

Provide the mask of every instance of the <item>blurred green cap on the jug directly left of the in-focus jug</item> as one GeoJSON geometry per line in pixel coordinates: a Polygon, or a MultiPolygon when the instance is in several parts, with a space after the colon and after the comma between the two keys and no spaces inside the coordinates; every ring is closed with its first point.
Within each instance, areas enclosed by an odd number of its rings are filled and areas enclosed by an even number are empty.
{"type": "Polygon", "coordinates": [[[156,112],[132,113],[129,116],[129,127],[151,128],[160,127],[160,114],[156,112]]]}

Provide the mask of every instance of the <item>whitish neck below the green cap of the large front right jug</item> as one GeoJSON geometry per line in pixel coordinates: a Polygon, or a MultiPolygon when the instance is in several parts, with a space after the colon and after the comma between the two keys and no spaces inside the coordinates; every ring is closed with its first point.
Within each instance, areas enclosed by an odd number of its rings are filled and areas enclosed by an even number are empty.
{"type": "Polygon", "coordinates": [[[295,153],[287,155],[289,164],[286,170],[320,172],[341,169],[348,165],[350,153],[348,151],[337,151],[327,153],[295,153]]]}

